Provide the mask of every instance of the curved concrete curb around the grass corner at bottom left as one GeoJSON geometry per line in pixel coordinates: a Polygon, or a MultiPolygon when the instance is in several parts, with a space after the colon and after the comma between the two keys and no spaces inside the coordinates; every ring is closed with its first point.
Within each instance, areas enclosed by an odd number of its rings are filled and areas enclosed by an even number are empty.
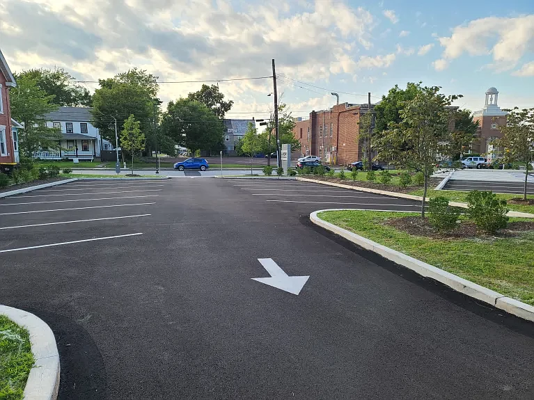
{"type": "Polygon", "coordinates": [[[59,353],[52,329],[35,315],[0,305],[0,314],[24,326],[30,333],[31,352],[36,365],[30,370],[24,400],[56,400],[59,390],[59,353]]]}

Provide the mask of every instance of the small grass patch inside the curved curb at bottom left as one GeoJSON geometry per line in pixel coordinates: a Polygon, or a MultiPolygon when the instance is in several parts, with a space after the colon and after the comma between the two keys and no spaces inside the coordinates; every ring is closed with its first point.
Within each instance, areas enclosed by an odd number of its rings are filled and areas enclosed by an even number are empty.
{"type": "Polygon", "coordinates": [[[34,363],[28,331],[0,315],[0,399],[22,399],[34,363]]]}

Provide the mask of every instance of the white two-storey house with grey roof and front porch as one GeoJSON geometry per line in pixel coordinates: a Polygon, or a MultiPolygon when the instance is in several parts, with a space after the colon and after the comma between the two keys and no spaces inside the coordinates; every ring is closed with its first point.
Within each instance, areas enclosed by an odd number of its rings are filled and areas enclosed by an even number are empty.
{"type": "Polygon", "coordinates": [[[60,107],[46,115],[47,127],[61,129],[59,149],[42,149],[33,153],[37,159],[90,159],[100,157],[100,150],[113,150],[113,145],[93,127],[91,108],[60,107]]]}

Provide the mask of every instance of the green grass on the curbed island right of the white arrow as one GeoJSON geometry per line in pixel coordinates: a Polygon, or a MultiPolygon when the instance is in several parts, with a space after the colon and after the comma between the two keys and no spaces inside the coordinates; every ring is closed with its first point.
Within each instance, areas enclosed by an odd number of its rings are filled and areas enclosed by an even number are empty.
{"type": "MultiPolygon", "coordinates": [[[[327,211],[319,214],[324,221],[534,305],[534,232],[492,239],[431,239],[382,225],[387,218],[413,215],[379,211],[327,211]]],[[[510,221],[526,220],[511,218],[510,221]]]]}

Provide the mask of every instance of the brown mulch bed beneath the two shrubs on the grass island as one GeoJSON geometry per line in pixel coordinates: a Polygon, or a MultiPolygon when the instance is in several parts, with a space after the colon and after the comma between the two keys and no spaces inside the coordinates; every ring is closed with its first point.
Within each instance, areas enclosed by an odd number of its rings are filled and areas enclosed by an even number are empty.
{"type": "Polygon", "coordinates": [[[534,231],[534,221],[510,222],[508,226],[496,232],[496,234],[485,234],[477,230],[475,223],[462,221],[455,230],[448,233],[441,233],[434,230],[428,222],[420,216],[405,216],[401,218],[389,218],[384,221],[384,225],[394,227],[397,230],[406,232],[413,236],[430,237],[432,239],[474,239],[480,237],[517,237],[521,232],[534,231]]]}

